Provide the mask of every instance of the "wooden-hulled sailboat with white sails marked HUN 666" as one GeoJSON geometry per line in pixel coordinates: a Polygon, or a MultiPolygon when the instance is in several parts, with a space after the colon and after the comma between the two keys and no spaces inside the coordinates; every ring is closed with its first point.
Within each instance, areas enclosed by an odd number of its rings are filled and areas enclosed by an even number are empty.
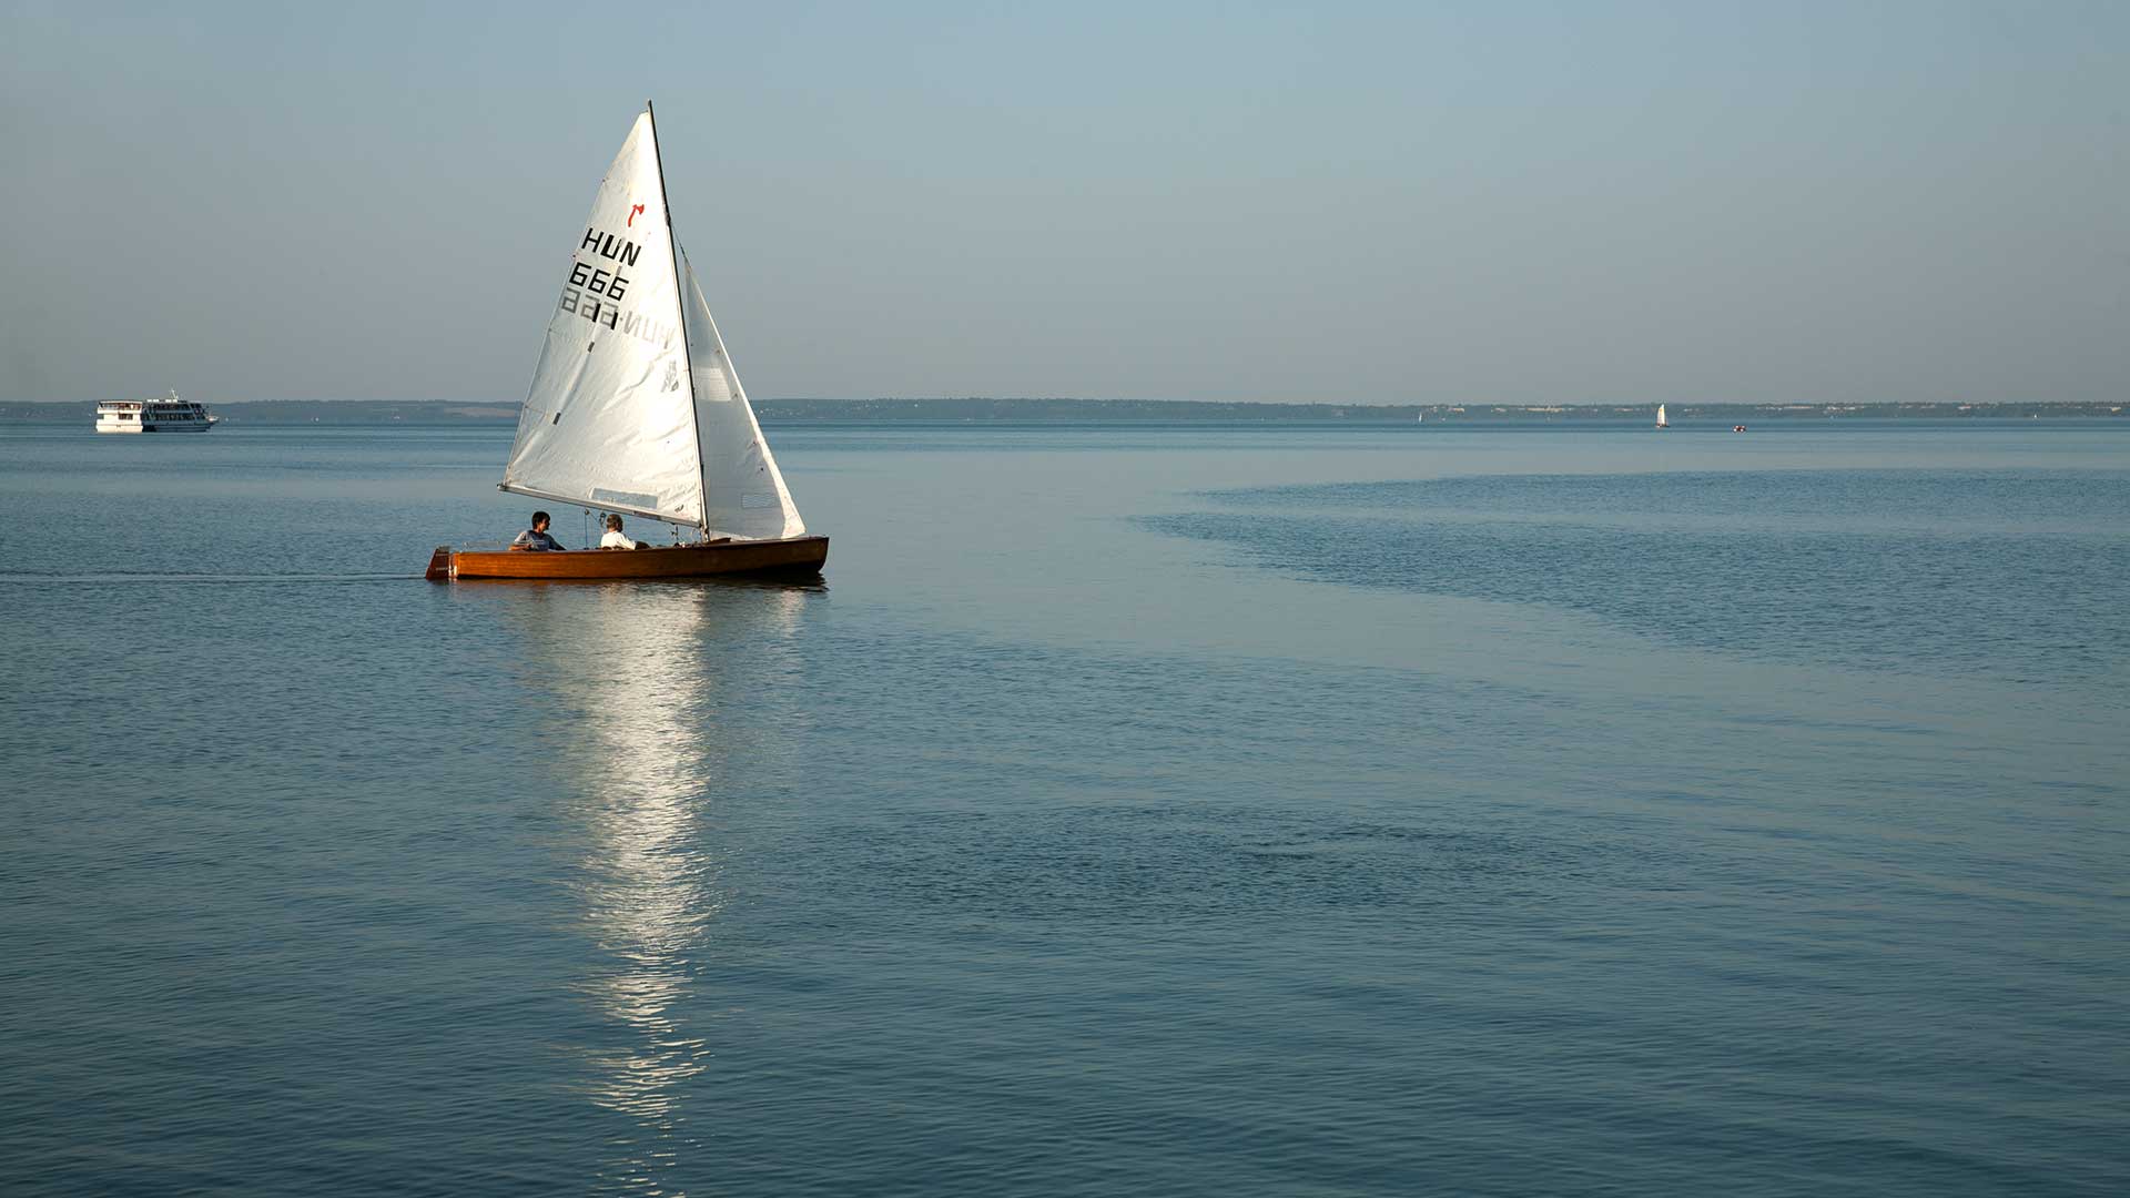
{"type": "Polygon", "coordinates": [[[428,578],[820,573],[829,537],[809,535],[799,518],[673,237],[650,104],[575,241],[496,486],[694,535],[635,550],[439,546],[428,578]]]}

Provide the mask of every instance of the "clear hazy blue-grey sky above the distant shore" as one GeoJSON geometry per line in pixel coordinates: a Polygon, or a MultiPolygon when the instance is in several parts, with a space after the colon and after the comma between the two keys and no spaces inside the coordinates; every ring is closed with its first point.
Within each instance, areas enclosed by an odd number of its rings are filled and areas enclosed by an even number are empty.
{"type": "Polygon", "coordinates": [[[0,401],[515,403],[658,102],[758,399],[2121,401],[2130,4],[21,4],[0,401]]]}

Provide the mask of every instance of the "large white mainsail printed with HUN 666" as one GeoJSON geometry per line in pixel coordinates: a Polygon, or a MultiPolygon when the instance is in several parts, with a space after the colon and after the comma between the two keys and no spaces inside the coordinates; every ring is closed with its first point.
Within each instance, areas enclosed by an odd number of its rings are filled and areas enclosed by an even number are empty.
{"type": "Polygon", "coordinates": [[[571,239],[562,298],[518,414],[503,488],[705,524],[654,136],[650,113],[639,115],[599,183],[584,232],[571,239]]]}

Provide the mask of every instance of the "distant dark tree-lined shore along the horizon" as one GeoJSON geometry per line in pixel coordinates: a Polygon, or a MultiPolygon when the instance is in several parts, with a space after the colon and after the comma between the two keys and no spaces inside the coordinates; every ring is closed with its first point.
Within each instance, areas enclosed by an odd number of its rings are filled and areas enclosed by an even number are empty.
{"type": "MultiPolygon", "coordinates": [[[[1672,424],[1755,420],[2121,418],[2124,403],[1676,403],[1672,424]]],[[[1163,399],[765,399],[767,424],[1638,424],[1655,403],[1195,403],[1163,399]]],[[[253,401],[215,403],[230,424],[511,424],[515,403],[253,401]]],[[[0,403],[0,420],[94,420],[94,403],[0,403]]]]}

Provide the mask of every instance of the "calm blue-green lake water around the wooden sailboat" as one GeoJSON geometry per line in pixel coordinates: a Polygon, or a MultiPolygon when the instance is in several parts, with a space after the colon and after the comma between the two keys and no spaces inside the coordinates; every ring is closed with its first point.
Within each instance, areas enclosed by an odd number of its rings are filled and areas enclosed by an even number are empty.
{"type": "Polygon", "coordinates": [[[2130,1187],[2124,424],[771,437],[0,426],[0,1192],[2130,1187]]]}

